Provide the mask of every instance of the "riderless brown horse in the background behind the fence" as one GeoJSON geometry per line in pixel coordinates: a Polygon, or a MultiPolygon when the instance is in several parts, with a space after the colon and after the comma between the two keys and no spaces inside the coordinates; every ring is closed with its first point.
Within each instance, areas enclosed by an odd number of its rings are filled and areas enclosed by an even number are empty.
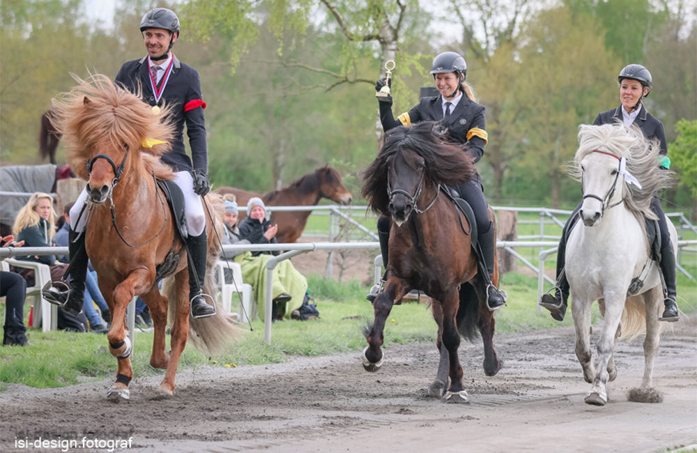
{"type": "MultiPolygon", "coordinates": [[[[268,192],[266,195],[247,192],[234,187],[220,187],[215,190],[220,194],[235,194],[240,206],[246,206],[252,197],[259,197],[266,206],[315,206],[320,199],[326,198],[342,206],[351,204],[351,192],[342,185],[342,176],[338,171],[325,165],[312,173],[302,176],[288,187],[268,192]]],[[[271,221],[278,225],[276,240],[279,243],[294,243],[307,225],[310,210],[285,211],[275,213],[271,210],[271,221]]],[[[240,220],[247,215],[240,212],[240,220]]]]}

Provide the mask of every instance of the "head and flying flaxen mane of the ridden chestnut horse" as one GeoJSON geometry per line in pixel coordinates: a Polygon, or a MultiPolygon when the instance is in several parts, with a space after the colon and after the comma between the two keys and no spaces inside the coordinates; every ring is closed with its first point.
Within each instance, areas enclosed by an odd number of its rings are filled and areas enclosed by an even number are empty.
{"type": "Polygon", "coordinates": [[[167,121],[172,106],[154,113],[139,96],[112,83],[105,75],[83,80],[54,99],[52,122],[63,135],[75,174],[87,181],[89,199],[103,203],[114,184],[135,169],[171,178],[159,156],[169,151],[174,126],[167,121]],[[163,143],[153,146],[153,139],[163,143]]]}

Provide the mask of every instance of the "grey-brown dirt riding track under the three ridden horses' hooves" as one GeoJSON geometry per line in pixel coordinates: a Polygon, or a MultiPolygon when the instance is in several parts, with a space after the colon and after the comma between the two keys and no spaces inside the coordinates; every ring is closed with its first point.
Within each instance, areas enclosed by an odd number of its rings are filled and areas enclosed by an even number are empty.
{"type": "MultiPolygon", "coordinates": [[[[61,435],[79,447],[83,437],[132,436],[132,447],[119,450],[128,452],[654,453],[697,443],[697,318],[674,327],[654,371],[660,404],[627,401],[641,383],[641,338],[618,346],[608,404],[584,404],[590,385],[573,330],[561,328],[498,335],[504,367],[493,378],[482,371],[481,344],[463,343],[469,405],[425,396],[438,364],[433,344],[393,346],[375,374],[362,369],[358,352],[185,371],[172,398],[155,393],[159,378],[141,378],[130,404],[105,399],[112,379],[47,390],[10,385],[0,394],[0,451],[29,450],[15,439],[61,435]]],[[[93,451],[64,451],[78,450],[93,451]]]]}

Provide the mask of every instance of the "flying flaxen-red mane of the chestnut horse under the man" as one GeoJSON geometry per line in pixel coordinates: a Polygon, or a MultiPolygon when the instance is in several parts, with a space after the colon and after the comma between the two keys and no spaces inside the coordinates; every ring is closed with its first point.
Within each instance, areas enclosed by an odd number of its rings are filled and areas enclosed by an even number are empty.
{"type": "Polygon", "coordinates": [[[52,100],[51,121],[63,135],[66,157],[75,174],[87,180],[86,161],[100,153],[100,147],[126,145],[132,153],[141,155],[148,173],[154,171],[158,178],[171,179],[170,167],[161,164],[159,156],[171,148],[174,126],[167,118],[173,107],[164,106],[154,114],[140,93],[131,93],[105,75],[72,77],[77,86],[52,100]],[[145,139],[168,143],[146,148],[145,139]]]}

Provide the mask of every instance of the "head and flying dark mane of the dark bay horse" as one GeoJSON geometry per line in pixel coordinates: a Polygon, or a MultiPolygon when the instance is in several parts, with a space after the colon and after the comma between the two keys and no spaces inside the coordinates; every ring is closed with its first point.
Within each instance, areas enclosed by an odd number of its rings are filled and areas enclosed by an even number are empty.
{"type": "Polygon", "coordinates": [[[465,183],[474,174],[473,159],[445,141],[438,123],[424,121],[385,134],[378,157],[365,171],[361,194],[374,212],[401,224],[418,209],[422,194],[434,197],[439,184],[465,183]]]}

